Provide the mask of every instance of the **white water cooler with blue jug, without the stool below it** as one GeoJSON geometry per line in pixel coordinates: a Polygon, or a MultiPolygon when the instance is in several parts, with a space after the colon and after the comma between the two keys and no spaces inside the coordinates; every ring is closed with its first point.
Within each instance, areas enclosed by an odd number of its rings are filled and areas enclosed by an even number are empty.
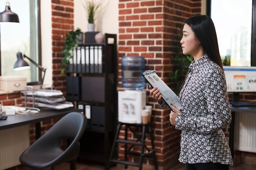
{"type": "Polygon", "coordinates": [[[122,57],[122,86],[125,91],[118,92],[118,121],[141,124],[141,111],[146,106],[145,79],[141,72],[145,70],[142,56],[122,57]]]}

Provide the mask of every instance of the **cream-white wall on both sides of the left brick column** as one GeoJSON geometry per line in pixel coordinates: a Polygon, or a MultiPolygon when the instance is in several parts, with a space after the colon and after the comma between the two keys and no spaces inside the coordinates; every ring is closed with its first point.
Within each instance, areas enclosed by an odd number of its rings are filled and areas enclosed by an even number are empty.
{"type": "MultiPolygon", "coordinates": [[[[99,0],[98,0],[99,1],[99,0]]],[[[52,85],[52,12],[51,0],[41,0],[42,66],[47,68],[44,84],[52,85]]],[[[101,9],[96,20],[95,31],[118,33],[118,0],[101,0],[101,9]]],[[[87,19],[83,4],[85,0],[74,0],[74,29],[87,31],[87,19]]]]}

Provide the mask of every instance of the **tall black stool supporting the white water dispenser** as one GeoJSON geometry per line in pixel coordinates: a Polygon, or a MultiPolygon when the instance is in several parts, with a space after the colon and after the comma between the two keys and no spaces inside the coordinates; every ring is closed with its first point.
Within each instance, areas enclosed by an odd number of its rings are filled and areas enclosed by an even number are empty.
{"type": "MultiPolygon", "coordinates": [[[[123,146],[121,146],[123,147],[123,146]]],[[[109,170],[110,168],[110,163],[120,163],[120,164],[124,164],[125,165],[125,169],[128,168],[128,166],[137,166],[139,167],[139,170],[142,170],[142,164],[143,164],[143,158],[144,157],[148,157],[148,158],[153,158],[154,164],[155,164],[155,170],[158,170],[158,166],[157,166],[157,157],[155,154],[155,144],[154,144],[154,139],[153,139],[153,132],[151,130],[151,122],[149,122],[148,124],[128,124],[128,123],[122,123],[119,122],[118,126],[117,126],[117,132],[115,135],[115,139],[113,142],[113,146],[110,152],[110,160],[108,161],[108,167],[106,168],[106,170],[109,170]],[[121,130],[121,126],[125,126],[125,139],[124,140],[119,140],[119,132],[121,130]],[[142,128],[142,134],[141,135],[137,135],[134,130],[132,130],[131,127],[140,127],[142,128]],[[127,138],[127,130],[129,130],[132,132],[133,136],[135,138],[137,138],[136,141],[129,141],[127,138]],[[145,135],[146,135],[146,130],[149,131],[150,133],[150,139],[151,139],[151,146],[152,146],[152,150],[149,150],[148,147],[145,145],[145,135]],[[115,159],[113,158],[113,153],[114,150],[118,150],[119,146],[118,143],[124,144],[124,148],[125,148],[125,160],[119,160],[119,159],[115,159]],[[130,144],[131,146],[128,148],[128,144],[130,144]],[[134,146],[141,146],[141,151],[140,152],[135,152],[135,151],[131,151],[132,148],[134,146]],[[147,153],[144,153],[144,148],[148,151],[147,153]],[[134,156],[139,156],[139,163],[135,163],[135,162],[131,162],[128,161],[128,155],[134,155],[134,156]]]]}

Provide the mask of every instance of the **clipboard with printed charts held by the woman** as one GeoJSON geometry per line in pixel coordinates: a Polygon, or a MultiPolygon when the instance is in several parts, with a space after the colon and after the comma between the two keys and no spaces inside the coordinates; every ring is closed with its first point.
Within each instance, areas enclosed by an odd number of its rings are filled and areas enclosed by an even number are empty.
{"type": "Polygon", "coordinates": [[[141,75],[147,80],[147,82],[154,88],[157,87],[162,93],[162,99],[171,107],[175,106],[178,109],[180,107],[180,98],[173,92],[169,86],[157,75],[155,70],[147,70],[141,72],[141,75]]]}

